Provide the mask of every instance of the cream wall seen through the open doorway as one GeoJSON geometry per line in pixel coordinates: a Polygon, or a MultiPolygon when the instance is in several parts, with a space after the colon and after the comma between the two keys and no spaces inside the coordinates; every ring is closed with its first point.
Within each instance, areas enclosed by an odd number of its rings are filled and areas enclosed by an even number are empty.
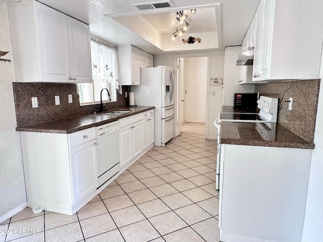
{"type": "Polygon", "coordinates": [[[185,118],[186,122],[205,123],[207,57],[185,58],[185,118]]]}

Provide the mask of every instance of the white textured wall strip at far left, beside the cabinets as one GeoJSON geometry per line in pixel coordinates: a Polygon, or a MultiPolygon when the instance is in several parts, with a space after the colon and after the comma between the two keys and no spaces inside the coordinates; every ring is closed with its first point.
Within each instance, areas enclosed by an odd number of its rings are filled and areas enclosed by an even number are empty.
{"type": "MultiPolygon", "coordinates": [[[[0,2],[0,50],[12,59],[7,2],[0,2]]],[[[0,62],[0,223],[6,213],[26,202],[25,180],[20,148],[12,82],[15,82],[13,62],[0,62]],[[4,215],[4,216],[3,216],[4,215]]],[[[8,214],[7,214],[8,215],[8,214]]]]}

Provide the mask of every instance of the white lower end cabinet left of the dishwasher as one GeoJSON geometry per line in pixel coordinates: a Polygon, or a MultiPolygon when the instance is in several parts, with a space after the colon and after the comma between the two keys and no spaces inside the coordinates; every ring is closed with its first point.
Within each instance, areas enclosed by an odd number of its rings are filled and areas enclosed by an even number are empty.
{"type": "Polygon", "coordinates": [[[27,206],[74,214],[97,188],[95,127],[73,134],[20,136],[27,206]]]}

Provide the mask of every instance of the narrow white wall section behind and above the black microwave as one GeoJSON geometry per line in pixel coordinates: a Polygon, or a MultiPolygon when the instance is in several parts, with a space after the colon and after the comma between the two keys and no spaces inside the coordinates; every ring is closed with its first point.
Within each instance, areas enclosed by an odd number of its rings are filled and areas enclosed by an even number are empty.
{"type": "Polygon", "coordinates": [[[254,92],[254,84],[239,84],[240,67],[236,66],[241,46],[227,47],[225,50],[224,97],[225,106],[233,106],[234,93],[254,92]]]}

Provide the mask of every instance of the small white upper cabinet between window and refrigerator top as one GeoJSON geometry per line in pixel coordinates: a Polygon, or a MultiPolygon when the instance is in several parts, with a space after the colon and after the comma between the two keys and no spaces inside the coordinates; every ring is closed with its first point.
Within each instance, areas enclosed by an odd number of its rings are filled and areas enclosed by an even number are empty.
{"type": "Polygon", "coordinates": [[[140,68],[152,67],[152,54],[132,45],[118,47],[122,85],[140,85],[140,68]]]}

